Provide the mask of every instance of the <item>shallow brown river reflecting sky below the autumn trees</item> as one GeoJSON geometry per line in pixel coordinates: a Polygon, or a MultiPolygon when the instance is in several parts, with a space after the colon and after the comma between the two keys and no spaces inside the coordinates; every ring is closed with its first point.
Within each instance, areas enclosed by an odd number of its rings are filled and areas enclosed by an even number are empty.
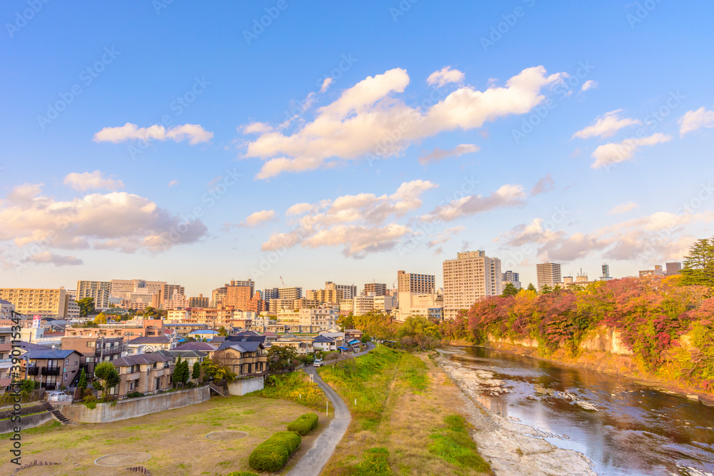
{"type": "Polygon", "coordinates": [[[452,350],[463,351],[453,363],[503,381],[506,393],[476,395],[482,405],[553,434],[545,440],[583,453],[600,475],[714,476],[714,407],[617,375],[486,348],[452,350]]]}

